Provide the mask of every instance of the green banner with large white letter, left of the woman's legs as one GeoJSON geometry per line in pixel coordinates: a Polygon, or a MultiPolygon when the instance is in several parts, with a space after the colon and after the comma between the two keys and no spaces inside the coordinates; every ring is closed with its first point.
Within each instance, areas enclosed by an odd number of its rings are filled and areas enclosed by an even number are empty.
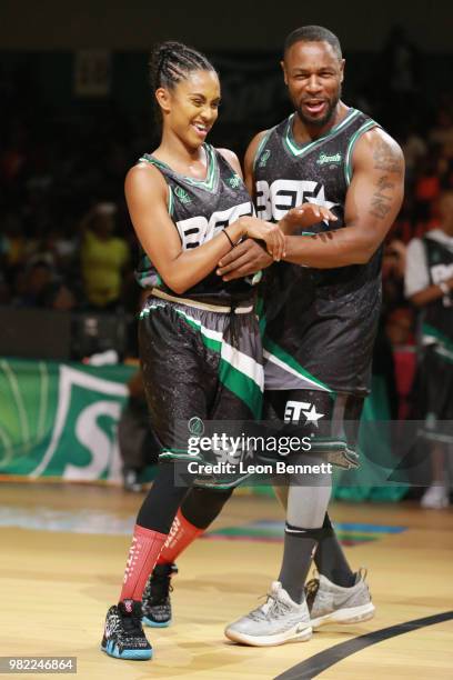
{"type": "Polygon", "coordinates": [[[0,476],[118,480],[134,369],[0,359],[0,476]]]}

